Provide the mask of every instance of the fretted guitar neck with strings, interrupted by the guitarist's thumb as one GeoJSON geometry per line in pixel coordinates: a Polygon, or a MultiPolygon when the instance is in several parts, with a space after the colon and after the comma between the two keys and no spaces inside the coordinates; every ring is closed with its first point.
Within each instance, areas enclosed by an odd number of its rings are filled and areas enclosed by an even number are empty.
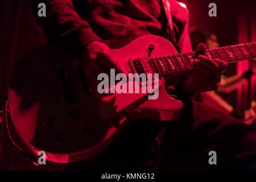
{"type": "MultiPolygon", "coordinates": [[[[207,49],[203,54],[210,59],[221,59],[226,61],[226,63],[249,60],[256,57],[256,43],[207,49]]],[[[193,69],[192,60],[195,58],[195,55],[196,51],[152,57],[149,59],[149,64],[154,73],[159,73],[160,76],[167,76],[171,73],[193,69]]]]}

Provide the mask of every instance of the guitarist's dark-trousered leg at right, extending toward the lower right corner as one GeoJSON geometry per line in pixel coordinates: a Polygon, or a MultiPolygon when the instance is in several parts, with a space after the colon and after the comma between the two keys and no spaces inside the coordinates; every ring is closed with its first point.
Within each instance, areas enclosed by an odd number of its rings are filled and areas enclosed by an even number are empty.
{"type": "Polygon", "coordinates": [[[167,123],[159,169],[256,169],[256,129],[199,102],[167,123]],[[168,125],[168,126],[167,126],[168,125]],[[210,165],[209,151],[217,154],[210,165]]]}

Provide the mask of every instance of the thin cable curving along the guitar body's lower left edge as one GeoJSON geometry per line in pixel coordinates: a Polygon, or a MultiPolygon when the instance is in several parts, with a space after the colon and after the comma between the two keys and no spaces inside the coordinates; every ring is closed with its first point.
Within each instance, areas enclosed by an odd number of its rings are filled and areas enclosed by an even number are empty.
{"type": "Polygon", "coordinates": [[[6,101],[5,109],[3,110],[3,121],[5,122],[6,133],[7,133],[7,136],[9,138],[11,144],[20,154],[22,154],[25,158],[29,159],[35,166],[39,166],[37,156],[31,155],[30,153],[22,150],[22,148],[19,147],[18,144],[16,144],[14,142],[13,137],[11,137],[11,133],[10,133],[9,125],[8,125],[8,118],[9,118],[9,104],[8,104],[8,101],[6,101]]]}

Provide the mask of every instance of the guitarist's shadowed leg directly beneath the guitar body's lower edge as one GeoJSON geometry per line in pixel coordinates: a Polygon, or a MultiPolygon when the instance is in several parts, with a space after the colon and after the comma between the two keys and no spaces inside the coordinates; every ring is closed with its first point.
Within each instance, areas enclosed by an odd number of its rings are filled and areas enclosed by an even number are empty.
{"type": "Polygon", "coordinates": [[[83,162],[65,164],[74,169],[154,169],[158,154],[156,138],[162,127],[159,121],[138,119],[130,123],[122,134],[101,154],[83,162]]]}

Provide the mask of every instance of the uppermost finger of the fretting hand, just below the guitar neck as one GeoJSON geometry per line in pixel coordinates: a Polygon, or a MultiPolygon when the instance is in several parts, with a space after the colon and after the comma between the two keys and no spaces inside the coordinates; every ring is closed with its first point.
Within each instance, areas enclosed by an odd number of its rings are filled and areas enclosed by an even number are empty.
{"type": "Polygon", "coordinates": [[[218,73],[218,69],[219,69],[218,64],[205,56],[202,56],[202,55],[198,56],[197,59],[193,61],[193,64],[203,65],[205,69],[208,69],[208,71],[212,72],[214,75],[218,73]]]}

